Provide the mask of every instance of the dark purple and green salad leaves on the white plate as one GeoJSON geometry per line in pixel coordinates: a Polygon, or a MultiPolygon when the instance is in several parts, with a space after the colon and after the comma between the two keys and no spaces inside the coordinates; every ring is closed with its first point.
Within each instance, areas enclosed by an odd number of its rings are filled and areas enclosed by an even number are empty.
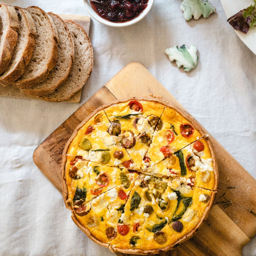
{"type": "Polygon", "coordinates": [[[254,2],[254,5],[250,5],[228,18],[227,21],[234,29],[247,34],[250,28],[256,26],[256,0],[254,2]]]}

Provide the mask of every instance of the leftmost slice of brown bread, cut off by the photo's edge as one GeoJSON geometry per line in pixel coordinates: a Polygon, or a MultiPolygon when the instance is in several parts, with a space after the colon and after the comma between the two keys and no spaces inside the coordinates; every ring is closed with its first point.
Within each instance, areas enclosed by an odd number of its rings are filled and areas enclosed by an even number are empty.
{"type": "Polygon", "coordinates": [[[13,6],[0,4],[0,74],[9,65],[18,40],[19,20],[13,6]]]}

